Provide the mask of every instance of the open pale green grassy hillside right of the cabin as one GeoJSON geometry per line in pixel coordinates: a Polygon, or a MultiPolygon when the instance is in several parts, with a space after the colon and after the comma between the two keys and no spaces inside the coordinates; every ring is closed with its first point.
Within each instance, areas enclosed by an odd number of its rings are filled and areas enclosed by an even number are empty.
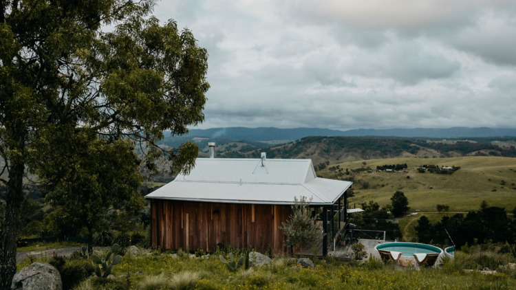
{"type": "Polygon", "coordinates": [[[512,212],[516,208],[516,159],[508,157],[453,157],[453,158],[393,158],[367,161],[353,161],[330,164],[318,175],[332,179],[352,179],[355,197],[349,199],[353,206],[365,201],[376,201],[380,205],[391,203],[396,190],[405,193],[411,212],[420,210],[416,216],[399,219],[405,238],[416,235],[413,226],[420,216],[427,216],[431,222],[440,221],[445,214],[476,211],[486,200],[489,205],[505,208],[512,212]],[[363,164],[365,162],[365,164],[363,164]],[[353,172],[345,175],[346,168],[373,168],[387,164],[407,164],[405,172],[353,172]],[[417,167],[424,164],[438,166],[460,166],[453,175],[420,173],[417,167]],[[338,166],[338,168],[337,168],[338,166]],[[341,170],[339,172],[339,169],[341,170]],[[409,179],[407,179],[409,177],[409,179]],[[367,189],[365,189],[367,188],[367,189]],[[449,212],[438,213],[436,205],[449,205],[449,212]]]}

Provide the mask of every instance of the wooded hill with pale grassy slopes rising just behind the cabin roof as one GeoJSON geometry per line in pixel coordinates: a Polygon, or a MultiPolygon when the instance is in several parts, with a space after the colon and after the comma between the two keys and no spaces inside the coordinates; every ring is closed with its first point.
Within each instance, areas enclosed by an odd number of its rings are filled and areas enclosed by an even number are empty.
{"type": "MultiPolygon", "coordinates": [[[[424,138],[427,139],[427,138],[424,138]]],[[[475,137],[469,140],[432,141],[406,137],[304,137],[268,148],[217,150],[219,158],[309,158],[314,164],[398,157],[437,158],[462,156],[516,157],[516,137],[475,137]],[[496,141],[498,140],[498,141],[496,141]]],[[[235,146],[236,147],[236,146],[235,146]]],[[[201,157],[207,157],[205,152],[201,157]]]]}

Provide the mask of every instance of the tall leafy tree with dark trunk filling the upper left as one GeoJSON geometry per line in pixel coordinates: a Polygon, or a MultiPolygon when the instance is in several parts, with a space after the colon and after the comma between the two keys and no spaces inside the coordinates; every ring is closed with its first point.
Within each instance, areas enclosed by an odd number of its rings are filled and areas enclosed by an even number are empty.
{"type": "Polygon", "coordinates": [[[194,165],[195,144],[165,149],[158,142],[164,131],[184,135],[204,120],[208,54],[189,30],[180,32],[174,21],[160,25],[150,16],[154,7],[153,0],[0,1],[0,175],[8,175],[0,179],[7,188],[0,289],[10,289],[16,271],[27,170],[40,177],[48,170],[49,181],[62,175],[67,183],[75,170],[85,180],[72,161],[65,164],[75,168],[59,171],[42,161],[74,159],[84,152],[75,144],[97,138],[105,146],[131,140],[149,173],[158,172],[158,161],[175,173],[194,165]]]}

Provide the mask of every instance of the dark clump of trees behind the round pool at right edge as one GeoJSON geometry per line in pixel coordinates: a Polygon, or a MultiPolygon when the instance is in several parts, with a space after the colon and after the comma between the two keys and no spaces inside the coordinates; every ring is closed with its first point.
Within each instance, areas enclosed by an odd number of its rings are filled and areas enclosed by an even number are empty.
{"type": "Polygon", "coordinates": [[[426,216],[421,216],[416,232],[419,243],[450,244],[451,238],[457,247],[466,243],[513,244],[516,243],[516,220],[507,216],[505,208],[490,207],[483,201],[477,212],[443,216],[435,224],[431,224],[426,216]]]}

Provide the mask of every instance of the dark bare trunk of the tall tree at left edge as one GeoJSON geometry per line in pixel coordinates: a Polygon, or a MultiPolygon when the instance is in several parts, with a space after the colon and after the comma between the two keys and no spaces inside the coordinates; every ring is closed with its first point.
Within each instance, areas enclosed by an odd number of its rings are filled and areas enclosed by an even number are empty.
{"type": "Polygon", "coordinates": [[[18,212],[23,202],[23,163],[11,162],[6,194],[6,215],[0,230],[0,290],[10,290],[16,274],[16,234],[18,212]]]}

